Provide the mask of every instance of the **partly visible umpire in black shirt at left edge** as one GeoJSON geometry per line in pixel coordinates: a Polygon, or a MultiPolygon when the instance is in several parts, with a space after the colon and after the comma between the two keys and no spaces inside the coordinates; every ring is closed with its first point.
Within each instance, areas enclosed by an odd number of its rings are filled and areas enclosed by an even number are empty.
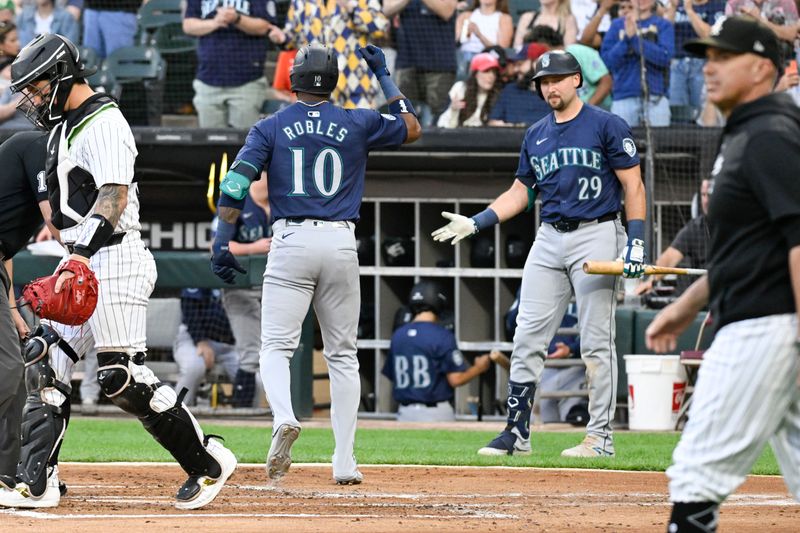
{"type": "Polygon", "coordinates": [[[30,131],[0,144],[0,475],[17,471],[25,403],[20,340],[27,326],[14,303],[11,258],[41,227],[43,217],[50,220],[46,143],[46,133],[30,131]]]}

